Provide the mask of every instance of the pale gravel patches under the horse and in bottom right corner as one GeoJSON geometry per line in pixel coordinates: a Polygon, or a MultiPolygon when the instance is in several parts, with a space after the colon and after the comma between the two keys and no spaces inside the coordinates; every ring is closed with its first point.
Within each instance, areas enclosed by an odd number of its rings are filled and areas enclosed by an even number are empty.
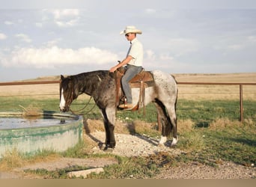
{"type": "MultiPolygon", "coordinates": [[[[91,133],[91,138],[98,143],[105,140],[105,132],[91,133]]],[[[159,147],[158,140],[142,135],[115,134],[117,145],[113,154],[120,156],[148,156],[159,152],[168,152],[178,155],[182,153],[176,148],[159,147]]],[[[169,146],[171,142],[168,142],[169,146]]],[[[94,147],[93,153],[102,152],[94,147]]],[[[237,165],[233,162],[221,162],[216,168],[194,162],[183,164],[174,168],[165,168],[156,179],[252,179],[256,177],[255,167],[237,165]]]]}

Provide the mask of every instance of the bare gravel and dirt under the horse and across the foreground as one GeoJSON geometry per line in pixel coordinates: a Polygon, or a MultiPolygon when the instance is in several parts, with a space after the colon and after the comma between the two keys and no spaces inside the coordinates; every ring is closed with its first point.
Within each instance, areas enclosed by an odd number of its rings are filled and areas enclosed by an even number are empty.
{"type": "MultiPolygon", "coordinates": [[[[91,140],[95,147],[91,149],[91,153],[104,153],[100,150],[98,144],[102,144],[105,140],[105,132],[92,132],[85,135],[89,141],[91,140]]],[[[125,135],[116,134],[117,145],[112,151],[113,154],[119,156],[148,156],[159,152],[168,152],[168,154],[178,155],[181,153],[177,148],[158,147],[157,140],[142,135],[125,135]]],[[[170,142],[168,142],[170,144],[170,142]]],[[[15,168],[10,172],[1,172],[0,179],[8,178],[37,178],[33,175],[24,175],[26,169],[36,170],[44,168],[48,171],[67,168],[72,165],[103,167],[117,163],[115,159],[56,159],[51,162],[40,162],[34,165],[27,165],[22,168],[15,168]]],[[[198,162],[182,164],[177,167],[164,168],[155,178],[156,179],[252,179],[256,177],[255,167],[246,167],[237,165],[233,162],[221,162],[216,168],[208,165],[202,165],[198,162]]]]}

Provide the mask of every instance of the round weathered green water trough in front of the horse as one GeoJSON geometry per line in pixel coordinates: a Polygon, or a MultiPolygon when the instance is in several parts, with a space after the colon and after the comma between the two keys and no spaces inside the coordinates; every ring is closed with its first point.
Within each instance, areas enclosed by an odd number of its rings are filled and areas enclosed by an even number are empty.
{"type": "Polygon", "coordinates": [[[63,152],[82,139],[81,116],[43,111],[37,117],[22,113],[0,113],[0,158],[7,151],[28,155],[42,150],[63,152]]]}

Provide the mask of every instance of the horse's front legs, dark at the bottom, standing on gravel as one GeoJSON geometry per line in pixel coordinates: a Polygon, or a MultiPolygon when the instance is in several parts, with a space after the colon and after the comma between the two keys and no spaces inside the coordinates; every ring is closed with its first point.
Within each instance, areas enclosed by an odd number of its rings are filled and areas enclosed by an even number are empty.
{"type": "Polygon", "coordinates": [[[104,150],[108,150],[108,148],[115,148],[115,107],[107,107],[102,110],[104,127],[106,132],[106,147],[104,150]]]}

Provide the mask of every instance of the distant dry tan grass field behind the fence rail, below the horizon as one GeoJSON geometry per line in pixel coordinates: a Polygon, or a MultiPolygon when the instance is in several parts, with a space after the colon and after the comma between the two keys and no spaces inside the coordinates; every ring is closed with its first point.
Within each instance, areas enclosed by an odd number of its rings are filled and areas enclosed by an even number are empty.
{"type": "MultiPolygon", "coordinates": [[[[256,82],[256,73],[174,74],[177,82],[256,82]]],[[[40,77],[40,80],[58,80],[58,76],[40,77]]],[[[33,81],[33,80],[29,80],[33,81]]],[[[179,99],[239,99],[239,85],[178,85],[179,99]]],[[[1,86],[0,96],[32,96],[33,98],[59,98],[59,85],[1,86]]],[[[85,96],[85,95],[83,95],[85,96]]],[[[79,98],[82,96],[79,96],[79,98]]],[[[256,86],[243,86],[244,99],[256,99],[256,86]]]]}

